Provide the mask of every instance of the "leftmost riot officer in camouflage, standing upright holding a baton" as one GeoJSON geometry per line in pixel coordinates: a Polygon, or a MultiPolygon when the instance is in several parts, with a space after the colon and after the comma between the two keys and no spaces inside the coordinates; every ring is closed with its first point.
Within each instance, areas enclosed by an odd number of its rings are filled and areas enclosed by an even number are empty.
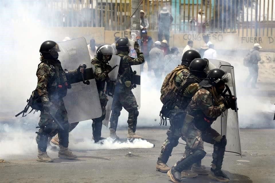
{"type": "Polygon", "coordinates": [[[42,102],[39,121],[39,131],[36,142],[38,144],[37,161],[52,162],[47,155],[47,142],[49,136],[58,133],[60,137],[60,150],[58,157],[74,159],[76,156],[68,149],[69,122],[67,111],[62,98],[67,94],[67,78],[60,61],[58,60],[59,46],[54,41],[45,41],[40,47],[41,63],[38,65],[36,75],[38,77],[37,91],[42,102]],[[53,110],[54,109],[54,110],[53,110]],[[58,120],[61,127],[53,122],[53,117],[58,120]]]}

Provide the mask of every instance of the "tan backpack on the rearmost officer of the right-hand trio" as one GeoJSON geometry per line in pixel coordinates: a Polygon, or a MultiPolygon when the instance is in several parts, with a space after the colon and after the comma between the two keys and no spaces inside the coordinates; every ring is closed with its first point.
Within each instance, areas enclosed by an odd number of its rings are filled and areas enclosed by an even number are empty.
{"type": "Polygon", "coordinates": [[[180,73],[183,69],[186,69],[186,67],[183,65],[179,65],[174,70],[172,70],[172,72],[166,75],[160,89],[160,101],[162,102],[162,104],[165,104],[168,100],[170,100],[173,92],[176,89],[176,75],[180,73]]]}

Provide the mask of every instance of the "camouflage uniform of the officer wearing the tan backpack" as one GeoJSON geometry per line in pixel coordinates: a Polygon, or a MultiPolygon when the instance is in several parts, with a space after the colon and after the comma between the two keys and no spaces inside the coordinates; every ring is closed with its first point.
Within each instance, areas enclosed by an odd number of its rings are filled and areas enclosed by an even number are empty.
{"type": "MultiPolygon", "coordinates": [[[[176,73],[175,77],[175,85],[176,87],[180,87],[180,85],[183,85],[189,75],[189,67],[186,67],[184,65],[179,65],[181,67],[184,67],[180,72],[176,73]]],[[[179,67],[178,66],[178,67],[179,67]]],[[[182,94],[180,94],[182,96],[182,94]]],[[[180,97],[179,97],[180,98],[180,97]]],[[[178,139],[180,138],[180,130],[183,125],[183,117],[185,115],[184,109],[180,108],[180,106],[176,106],[171,111],[170,116],[170,127],[167,130],[167,138],[164,141],[164,143],[161,146],[160,150],[160,156],[158,157],[157,164],[164,163],[166,164],[168,161],[168,158],[170,157],[170,154],[172,153],[172,150],[174,147],[178,145],[178,139]]]]}

